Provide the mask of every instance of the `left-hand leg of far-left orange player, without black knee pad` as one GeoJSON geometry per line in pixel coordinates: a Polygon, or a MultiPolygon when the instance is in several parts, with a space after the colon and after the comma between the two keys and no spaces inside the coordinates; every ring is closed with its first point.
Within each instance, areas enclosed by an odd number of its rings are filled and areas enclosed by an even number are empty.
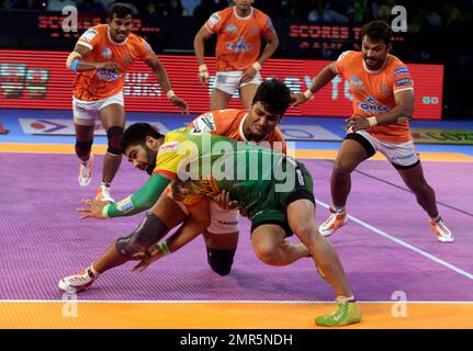
{"type": "Polygon", "coordinates": [[[99,115],[94,103],[72,102],[74,126],[76,129],[76,155],[80,159],[78,181],[80,186],[87,186],[92,180],[92,144],[95,131],[95,120],[99,115]]]}

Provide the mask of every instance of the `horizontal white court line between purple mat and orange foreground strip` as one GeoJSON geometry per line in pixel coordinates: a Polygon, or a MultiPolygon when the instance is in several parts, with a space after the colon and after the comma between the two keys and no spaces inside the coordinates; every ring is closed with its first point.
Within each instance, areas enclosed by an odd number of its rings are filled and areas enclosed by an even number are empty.
{"type": "MultiPolygon", "coordinates": [[[[0,299],[0,304],[4,303],[86,303],[86,304],[335,304],[335,301],[238,301],[238,299],[151,299],[151,301],[122,301],[122,299],[0,299]]],[[[398,304],[397,299],[390,301],[360,301],[357,299],[359,304],[398,304]]],[[[472,305],[473,301],[403,301],[403,304],[463,304],[472,305]]]]}

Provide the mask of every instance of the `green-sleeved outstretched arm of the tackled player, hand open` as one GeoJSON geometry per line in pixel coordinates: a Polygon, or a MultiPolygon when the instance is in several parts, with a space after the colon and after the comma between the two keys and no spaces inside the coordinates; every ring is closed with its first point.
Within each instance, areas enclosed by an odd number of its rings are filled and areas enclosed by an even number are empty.
{"type": "Polygon", "coordinates": [[[168,176],[155,173],[142,189],[122,201],[106,204],[97,200],[82,200],[89,207],[77,208],[77,211],[82,213],[80,219],[132,216],[150,208],[158,201],[169,182],[170,178],[168,176]]]}

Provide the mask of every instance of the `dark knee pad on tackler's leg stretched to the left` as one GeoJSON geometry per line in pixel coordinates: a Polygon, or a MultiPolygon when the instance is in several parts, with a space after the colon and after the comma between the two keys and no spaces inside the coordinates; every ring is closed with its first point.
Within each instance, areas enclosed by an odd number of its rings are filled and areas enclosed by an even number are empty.
{"type": "Polygon", "coordinates": [[[148,212],[131,235],[116,240],[116,249],[124,257],[133,258],[158,242],[167,231],[168,226],[159,217],[148,212]]]}

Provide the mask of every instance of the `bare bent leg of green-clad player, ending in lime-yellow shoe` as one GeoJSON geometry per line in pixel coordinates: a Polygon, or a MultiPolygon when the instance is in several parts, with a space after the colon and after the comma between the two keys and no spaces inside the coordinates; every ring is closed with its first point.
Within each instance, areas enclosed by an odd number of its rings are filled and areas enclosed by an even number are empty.
{"type": "Polygon", "coordinates": [[[317,230],[314,218],[314,203],[307,199],[291,202],[288,206],[291,229],[308,248],[320,275],[331,285],[338,308],[333,314],[319,316],[316,324],[327,327],[346,326],[361,320],[354,297],[351,294],[341,262],[330,242],[317,230]]]}

